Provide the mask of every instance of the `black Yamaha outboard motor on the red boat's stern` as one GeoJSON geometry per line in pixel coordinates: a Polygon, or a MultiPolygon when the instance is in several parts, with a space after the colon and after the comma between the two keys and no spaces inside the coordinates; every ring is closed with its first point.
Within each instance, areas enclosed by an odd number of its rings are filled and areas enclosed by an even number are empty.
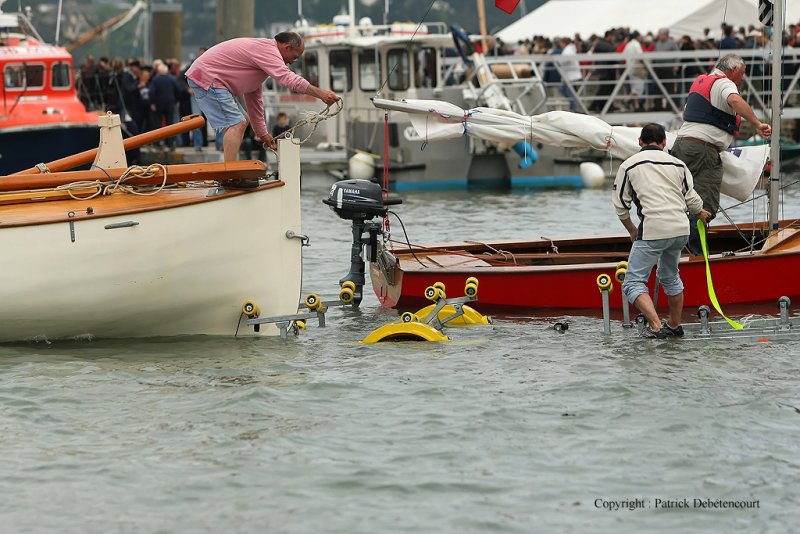
{"type": "Polygon", "coordinates": [[[355,284],[353,306],[358,306],[363,298],[362,289],[366,283],[365,261],[375,261],[378,254],[378,234],[386,217],[387,206],[400,204],[400,199],[383,200],[383,190],[379,184],[369,180],[342,180],[331,186],[328,198],[323,203],[342,219],[353,221],[353,244],[350,248],[350,272],[339,280],[341,286],[347,281],[355,284]],[[377,219],[376,218],[380,218],[377,219]],[[365,254],[362,254],[362,250],[365,254]]]}

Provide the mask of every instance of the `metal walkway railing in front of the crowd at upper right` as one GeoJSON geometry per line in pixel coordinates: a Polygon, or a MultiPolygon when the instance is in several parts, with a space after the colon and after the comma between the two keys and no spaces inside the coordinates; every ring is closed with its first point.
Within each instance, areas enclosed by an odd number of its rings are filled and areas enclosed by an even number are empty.
{"type": "MultiPolygon", "coordinates": [[[[540,112],[572,109],[612,124],[629,124],[648,118],[662,121],[679,118],[695,77],[709,72],[728,52],[735,52],[745,61],[742,98],[757,115],[769,117],[771,58],[766,49],[499,56],[487,58],[487,62],[490,66],[504,65],[508,57],[530,62],[535,67],[531,69],[530,83],[541,86],[547,95],[540,112]],[[576,70],[580,77],[574,75],[576,70]]],[[[800,49],[785,49],[781,64],[782,116],[800,118],[800,49]]]]}

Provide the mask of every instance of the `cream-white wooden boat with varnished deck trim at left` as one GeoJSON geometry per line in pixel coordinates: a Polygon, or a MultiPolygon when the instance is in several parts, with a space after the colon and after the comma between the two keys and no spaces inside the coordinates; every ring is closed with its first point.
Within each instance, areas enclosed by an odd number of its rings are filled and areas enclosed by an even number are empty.
{"type": "MultiPolygon", "coordinates": [[[[297,312],[301,241],[287,232],[301,233],[299,147],[284,140],[279,153],[277,175],[247,190],[208,180],[264,176],[263,163],[170,165],[166,182],[184,185],[149,196],[0,192],[0,342],[277,334],[272,324],[247,326],[242,307],[251,301],[262,317],[297,312]]],[[[0,177],[0,188],[13,180],[0,177]]]]}

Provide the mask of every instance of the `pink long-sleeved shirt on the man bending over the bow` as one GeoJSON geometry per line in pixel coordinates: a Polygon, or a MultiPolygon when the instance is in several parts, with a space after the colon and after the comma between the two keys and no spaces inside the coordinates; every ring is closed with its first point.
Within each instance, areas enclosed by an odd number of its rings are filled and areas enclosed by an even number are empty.
{"type": "Polygon", "coordinates": [[[308,81],[292,72],[278,51],[275,39],[240,37],[214,45],[198,57],[186,77],[208,90],[224,87],[244,95],[250,124],[258,137],[267,135],[262,85],[268,77],[296,93],[305,93],[308,81]]]}

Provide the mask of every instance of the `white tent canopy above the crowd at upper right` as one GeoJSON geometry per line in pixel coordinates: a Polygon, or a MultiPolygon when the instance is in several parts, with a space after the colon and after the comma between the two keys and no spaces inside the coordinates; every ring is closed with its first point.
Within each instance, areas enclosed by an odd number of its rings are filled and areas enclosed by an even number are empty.
{"type": "MultiPolygon", "coordinates": [[[[759,27],[757,4],[758,0],[550,0],[496,35],[508,43],[534,35],[572,37],[579,33],[586,39],[593,33],[628,27],[642,34],[669,28],[675,39],[682,35],[696,39],[703,36],[704,28],[710,28],[719,39],[723,21],[737,28],[759,27]]],[[[800,22],[800,0],[788,0],[787,4],[787,24],[800,22]]]]}

